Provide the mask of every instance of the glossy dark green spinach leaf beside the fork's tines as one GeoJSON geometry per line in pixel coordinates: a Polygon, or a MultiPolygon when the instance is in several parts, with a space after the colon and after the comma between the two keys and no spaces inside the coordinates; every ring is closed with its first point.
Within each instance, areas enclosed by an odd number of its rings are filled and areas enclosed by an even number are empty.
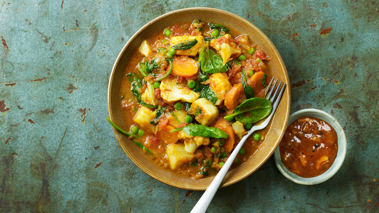
{"type": "Polygon", "coordinates": [[[234,116],[237,121],[244,124],[252,124],[260,119],[268,116],[271,112],[271,102],[265,98],[251,98],[241,103],[238,107],[234,108],[234,113],[225,116],[227,119],[234,116]]]}

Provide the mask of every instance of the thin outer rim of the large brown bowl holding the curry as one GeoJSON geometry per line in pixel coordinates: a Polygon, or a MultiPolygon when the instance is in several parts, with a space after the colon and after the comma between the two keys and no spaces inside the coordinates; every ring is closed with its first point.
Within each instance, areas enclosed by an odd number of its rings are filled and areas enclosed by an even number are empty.
{"type": "MultiPolygon", "coordinates": [[[[225,11],[225,10],[222,10],[222,9],[216,9],[216,8],[208,8],[208,7],[192,7],[192,8],[182,8],[182,9],[177,9],[177,10],[174,10],[174,11],[170,11],[168,13],[165,13],[165,14],[162,14],[161,16],[158,16],[156,17],[155,19],[152,19],[150,20],[149,22],[147,22],[145,25],[143,25],[143,27],[139,28],[138,31],[136,31],[129,39],[128,41],[125,43],[124,47],[122,47],[120,53],[117,55],[117,58],[116,58],[116,61],[114,62],[113,64],[113,67],[112,67],[112,71],[111,71],[111,74],[110,74],[110,78],[109,78],[109,82],[108,82],[108,92],[107,92],[107,102],[108,102],[108,114],[109,114],[109,117],[111,119],[111,121],[113,121],[113,113],[112,113],[112,110],[111,110],[111,101],[110,101],[110,94],[111,94],[111,90],[110,90],[110,87],[111,87],[111,83],[113,81],[113,77],[114,77],[114,72],[116,70],[116,67],[117,67],[117,64],[119,63],[119,60],[121,59],[121,56],[123,55],[124,51],[127,49],[127,46],[132,42],[133,39],[136,38],[136,36],[141,32],[143,31],[144,29],[146,29],[147,27],[149,27],[149,25],[151,25],[153,22],[156,22],[157,20],[163,18],[163,17],[166,17],[166,16],[170,16],[172,14],[175,14],[175,13],[181,13],[183,11],[192,11],[192,10],[204,10],[204,11],[215,11],[215,12],[219,12],[219,13],[224,13],[224,14],[228,14],[230,16],[233,16],[235,17],[236,19],[240,20],[241,22],[244,22],[246,23],[247,25],[249,25],[251,28],[253,28],[254,30],[258,31],[261,35],[262,35],[262,38],[264,40],[266,40],[268,42],[268,45],[273,49],[275,55],[278,56],[278,59],[279,59],[279,64],[280,66],[283,68],[283,71],[285,73],[285,82],[284,83],[287,83],[287,94],[288,94],[288,104],[287,104],[287,112],[285,113],[285,123],[288,122],[288,118],[290,116],[290,108],[291,108],[291,91],[290,91],[290,87],[289,87],[289,77],[288,77],[288,72],[287,72],[287,69],[285,67],[285,64],[283,62],[283,59],[282,59],[282,56],[280,56],[280,53],[279,51],[276,49],[275,45],[273,44],[273,42],[266,36],[265,33],[263,33],[262,30],[260,30],[257,26],[255,26],[254,24],[252,24],[251,22],[249,22],[248,20],[244,19],[243,17],[240,17],[234,13],[230,13],[229,11],[225,11]]],[[[165,183],[167,185],[170,185],[170,186],[174,186],[174,187],[177,187],[177,188],[182,188],[182,189],[186,189],[186,190],[197,190],[197,191],[204,191],[207,189],[207,187],[199,187],[199,188],[193,188],[193,187],[186,187],[186,186],[181,186],[181,185],[177,185],[177,184],[174,184],[172,182],[168,182],[166,180],[163,180],[163,179],[160,179],[158,177],[156,177],[154,174],[150,173],[149,171],[147,171],[146,168],[144,168],[140,163],[138,163],[138,161],[136,161],[135,159],[132,159],[129,157],[128,153],[125,151],[124,149],[124,146],[122,146],[121,144],[121,141],[120,139],[117,137],[117,130],[112,127],[113,129],[113,132],[114,134],[116,135],[116,139],[117,141],[119,142],[120,146],[122,147],[122,149],[124,150],[124,152],[127,154],[128,158],[130,160],[132,160],[132,162],[134,164],[136,164],[136,166],[141,169],[143,172],[145,172],[147,175],[149,175],[150,177],[152,177],[153,179],[155,180],[158,180],[162,183],[165,183]]],[[[278,138],[276,144],[271,147],[271,150],[269,150],[268,152],[268,155],[266,155],[265,158],[262,159],[262,161],[260,163],[257,164],[256,168],[255,169],[251,169],[249,172],[247,172],[246,174],[244,175],[241,175],[239,178],[235,179],[235,180],[232,180],[232,181],[228,181],[226,183],[223,183],[219,188],[224,188],[226,186],[230,186],[230,185],[233,185],[234,183],[237,183],[237,182],[240,182],[241,180],[245,179],[246,177],[248,177],[249,175],[251,175],[252,173],[254,173],[258,168],[260,168],[273,154],[274,154],[274,151],[276,150],[276,147],[279,146],[279,143],[284,135],[284,132],[285,132],[285,128],[282,129],[282,131],[280,132],[280,137],[278,138]]]]}

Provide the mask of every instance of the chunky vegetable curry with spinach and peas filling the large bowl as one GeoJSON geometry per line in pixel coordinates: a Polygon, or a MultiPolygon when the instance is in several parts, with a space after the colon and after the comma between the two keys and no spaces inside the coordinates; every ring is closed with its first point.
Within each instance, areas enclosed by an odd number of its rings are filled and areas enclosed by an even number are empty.
{"type": "MultiPolygon", "coordinates": [[[[123,133],[159,166],[192,179],[215,175],[246,130],[271,111],[264,98],[269,60],[248,35],[217,23],[159,31],[125,69],[123,133]]],[[[233,166],[252,157],[267,131],[247,140],[233,166]]]]}

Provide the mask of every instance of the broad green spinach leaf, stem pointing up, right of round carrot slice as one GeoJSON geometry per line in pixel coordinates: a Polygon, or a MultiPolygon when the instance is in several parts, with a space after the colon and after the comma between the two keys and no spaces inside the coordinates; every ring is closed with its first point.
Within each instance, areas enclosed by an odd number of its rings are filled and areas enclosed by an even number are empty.
{"type": "MultiPolygon", "coordinates": [[[[207,42],[208,44],[208,42],[207,42]]],[[[207,50],[204,53],[200,52],[199,59],[201,58],[200,67],[201,70],[205,73],[217,73],[217,72],[226,72],[228,68],[226,65],[222,65],[223,61],[221,56],[217,53],[213,52],[213,50],[209,50],[209,46],[207,45],[207,50]]]]}

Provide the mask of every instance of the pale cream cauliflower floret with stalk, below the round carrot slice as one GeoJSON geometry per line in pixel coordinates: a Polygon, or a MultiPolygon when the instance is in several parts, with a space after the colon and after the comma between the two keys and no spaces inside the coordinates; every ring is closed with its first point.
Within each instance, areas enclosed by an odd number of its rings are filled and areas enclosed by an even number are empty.
{"type": "Polygon", "coordinates": [[[177,84],[176,79],[172,75],[161,81],[159,89],[161,90],[162,99],[169,104],[173,104],[178,100],[192,103],[200,96],[199,93],[177,84]]]}

